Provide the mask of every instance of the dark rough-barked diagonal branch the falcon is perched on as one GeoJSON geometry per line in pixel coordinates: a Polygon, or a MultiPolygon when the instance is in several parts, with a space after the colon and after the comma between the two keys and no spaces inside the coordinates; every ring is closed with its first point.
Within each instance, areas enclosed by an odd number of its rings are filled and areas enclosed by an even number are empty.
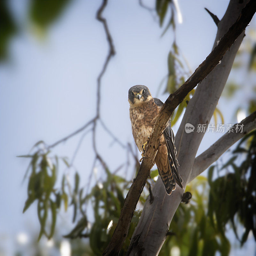
{"type": "MultiPolygon", "coordinates": [[[[161,108],[156,122],[152,130],[149,144],[153,147],[147,147],[145,154],[147,159],[143,159],[140,165],[139,172],[136,179],[132,183],[132,186],[125,198],[124,207],[121,210],[120,218],[118,220],[114,234],[108,244],[108,247],[103,252],[103,255],[118,255],[126,234],[128,233],[129,225],[132,220],[133,212],[136,208],[140,194],[145,186],[150,169],[153,166],[153,162],[157,153],[157,148],[160,141],[160,135],[164,130],[165,124],[169,120],[174,109],[182,102],[188,92],[190,92],[198,83],[200,83],[211,71],[218,65],[225,52],[232,46],[236,38],[244,31],[246,26],[251,21],[256,11],[256,1],[251,0],[242,10],[238,19],[228,32],[222,37],[219,44],[208,55],[204,62],[195,70],[194,74],[173,94],[171,94],[165,101],[161,108]]],[[[171,195],[172,196],[172,195],[171,195]]]]}

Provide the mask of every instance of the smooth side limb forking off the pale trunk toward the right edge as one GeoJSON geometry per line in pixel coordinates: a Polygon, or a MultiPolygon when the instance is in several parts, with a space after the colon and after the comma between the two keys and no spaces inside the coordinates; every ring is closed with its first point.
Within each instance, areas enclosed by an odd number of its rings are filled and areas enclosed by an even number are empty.
{"type": "MultiPolygon", "coordinates": [[[[244,125],[243,132],[227,132],[219,140],[217,140],[210,148],[205,150],[201,155],[197,156],[193,165],[190,180],[195,179],[199,174],[204,172],[211,164],[230,148],[236,141],[244,137],[245,134],[256,129],[256,112],[246,117],[238,125],[244,125]]],[[[236,124],[233,126],[236,127],[236,124]]]]}

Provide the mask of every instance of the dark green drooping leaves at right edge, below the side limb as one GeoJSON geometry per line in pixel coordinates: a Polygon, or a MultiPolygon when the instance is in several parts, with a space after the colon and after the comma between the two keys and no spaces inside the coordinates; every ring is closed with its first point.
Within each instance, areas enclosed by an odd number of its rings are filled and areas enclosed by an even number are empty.
{"type": "Polygon", "coordinates": [[[233,156],[221,169],[232,169],[232,172],[212,180],[214,167],[208,172],[210,185],[210,196],[208,204],[208,215],[215,230],[225,236],[225,227],[228,222],[240,241],[241,246],[252,234],[256,240],[256,132],[252,131],[240,140],[233,156]],[[245,144],[244,146],[242,146],[245,144]],[[236,159],[245,158],[240,164],[236,159]],[[235,222],[235,218],[239,222],[235,222]],[[236,224],[237,223],[237,224],[236,224]],[[237,226],[240,223],[244,232],[239,238],[237,226]]]}

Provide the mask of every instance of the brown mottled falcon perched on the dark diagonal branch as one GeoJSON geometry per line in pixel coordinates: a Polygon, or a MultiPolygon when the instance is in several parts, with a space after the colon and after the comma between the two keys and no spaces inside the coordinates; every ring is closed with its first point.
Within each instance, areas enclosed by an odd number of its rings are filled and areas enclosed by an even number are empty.
{"type": "MultiPolygon", "coordinates": [[[[164,104],[157,98],[152,98],[148,87],[135,85],[129,89],[128,101],[130,103],[130,119],[132,123],[132,135],[140,151],[145,151],[148,136],[150,136],[154,122],[152,120],[159,113],[164,104]]],[[[171,127],[171,120],[168,121],[161,137],[155,163],[158,173],[164,183],[164,188],[168,195],[176,188],[176,183],[181,187],[179,164],[176,158],[176,148],[174,146],[174,134],[171,127]]],[[[143,156],[144,153],[142,153],[143,156]]]]}

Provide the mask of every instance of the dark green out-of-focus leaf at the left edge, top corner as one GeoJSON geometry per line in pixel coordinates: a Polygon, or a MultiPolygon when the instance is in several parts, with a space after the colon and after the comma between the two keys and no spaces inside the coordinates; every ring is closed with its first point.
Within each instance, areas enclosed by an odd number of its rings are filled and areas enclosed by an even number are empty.
{"type": "Polygon", "coordinates": [[[0,60],[7,58],[7,49],[17,26],[10,12],[8,1],[0,1],[0,60]]]}

